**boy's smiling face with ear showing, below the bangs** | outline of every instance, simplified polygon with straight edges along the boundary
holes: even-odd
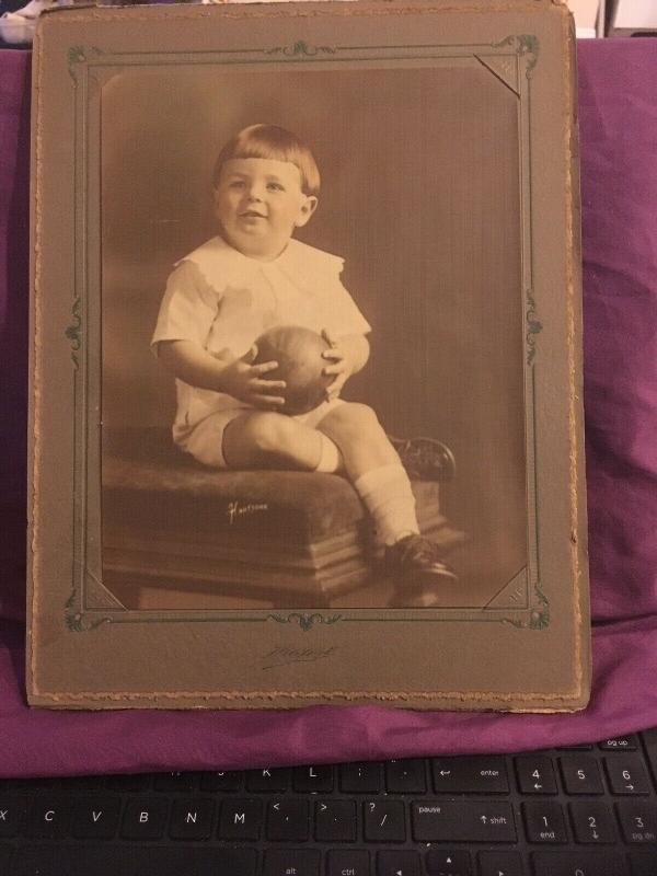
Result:
[[[304,226],[318,199],[301,191],[301,173],[289,161],[234,158],[215,188],[215,215],[228,242],[244,255],[268,261]]]

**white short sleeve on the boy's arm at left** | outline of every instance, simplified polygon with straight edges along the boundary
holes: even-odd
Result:
[[[160,341],[193,341],[204,347],[220,298],[198,265],[186,260],[180,262],[166,281],[151,349],[157,354]]]

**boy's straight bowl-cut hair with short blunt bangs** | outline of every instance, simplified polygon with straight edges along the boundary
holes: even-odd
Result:
[[[212,185],[217,186],[221,168],[232,158],[265,158],[289,161],[299,168],[301,189],[306,195],[320,194],[320,171],[312,152],[297,136],[277,125],[250,125],[229,140],[215,163]]]

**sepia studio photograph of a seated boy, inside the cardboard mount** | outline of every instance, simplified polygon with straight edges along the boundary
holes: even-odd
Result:
[[[106,78],[101,553],[118,604],[522,603],[519,115],[466,56]]]

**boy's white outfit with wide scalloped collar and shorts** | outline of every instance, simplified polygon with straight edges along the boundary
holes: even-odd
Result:
[[[157,354],[161,341],[192,341],[208,353],[241,357],[276,325],[365,335],[371,328],[341,283],[343,265],[343,258],[293,239],[277,258],[260,262],[211,238],[170,274],[151,347]],[[223,429],[252,406],[177,379],[176,395],[174,441],[200,462],[226,468]],[[323,402],[295,418],[316,426],[339,403]]]

